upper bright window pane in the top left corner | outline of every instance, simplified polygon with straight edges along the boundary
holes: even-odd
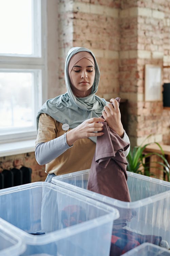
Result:
[[[1,54],[39,55],[38,3],[37,0],[0,0]]]

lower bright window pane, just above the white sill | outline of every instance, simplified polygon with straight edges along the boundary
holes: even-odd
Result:
[[[0,72],[0,130],[34,125],[34,73]]]

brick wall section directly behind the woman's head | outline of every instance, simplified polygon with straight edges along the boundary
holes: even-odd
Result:
[[[70,8],[66,7],[67,4]],[[109,98],[114,97],[119,93],[120,1],[60,1],[59,6],[63,11],[59,15],[59,27],[62,31],[60,88],[65,87],[64,62],[68,49],[83,46],[94,52],[99,64],[101,79],[98,95],[105,97],[109,94]],[[69,31],[69,35],[63,36],[65,30]]]

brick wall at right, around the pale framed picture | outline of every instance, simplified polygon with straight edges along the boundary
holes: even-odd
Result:
[[[128,132],[131,144],[139,145],[149,134],[153,134],[150,141],[168,143],[164,136],[166,132],[168,137],[169,128],[168,122],[165,122],[166,114],[163,114],[163,102],[145,102],[144,94],[145,64],[163,66],[165,31],[168,30],[165,27],[165,1],[121,3],[120,32],[123,39],[120,41],[120,91],[122,96],[129,99]],[[166,25],[169,25],[168,18]],[[169,56],[167,48],[168,45],[166,53]],[[163,81],[164,77],[163,73]]]

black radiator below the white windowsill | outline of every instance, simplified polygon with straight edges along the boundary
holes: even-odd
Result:
[[[31,183],[31,173],[32,169],[25,166],[20,169],[4,169],[0,172],[0,189]]]

